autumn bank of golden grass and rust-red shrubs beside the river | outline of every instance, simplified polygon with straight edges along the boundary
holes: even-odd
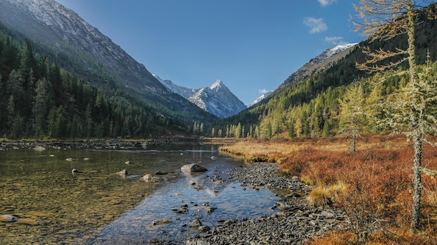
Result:
[[[437,180],[422,174],[422,231],[410,234],[413,150],[402,136],[372,135],[349,151],[343,138],[245,141],[221,147],[247,161],[280,164],[283,175],[313,186],[311,205],[345,210],[352,228],[313,244],[437,244]],[[424,145],[423,167],[437,170],[436,148]],[[433,172],[431,172],[432,175]]]

